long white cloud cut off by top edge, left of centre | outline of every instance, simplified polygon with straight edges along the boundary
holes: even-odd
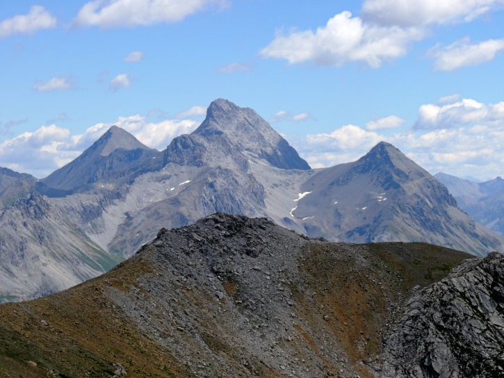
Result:
[[[172,23],[209,6],[226,4],[227,0],[94,0],[79,10],[74,24],[113,28]]]

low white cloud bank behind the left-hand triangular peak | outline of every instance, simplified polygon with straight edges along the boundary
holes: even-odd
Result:
[[[147,117],[131,115],[119,117],[115,122],[95,124],[84,133],[73,135],[70,129],[51,124],[1,143],[1,165],[38,178],[45,177],[74,160],[112,125],[129,131],[145,145],[161,150],[173,138],[196,129],[198,123],[193,120],[148,122]]]

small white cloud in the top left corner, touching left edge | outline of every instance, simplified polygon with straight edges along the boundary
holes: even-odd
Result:
[[[43,6],[32,6],[27,15],[17,15],[0,21],[0,38],[15,34],[33,34],[35,31],[55,28],[56,17]]]

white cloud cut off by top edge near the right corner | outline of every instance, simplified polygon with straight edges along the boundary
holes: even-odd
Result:
[[[503,0],[366,0],[362,17],[366,21],[398,26],[469,22],[503,3]]]

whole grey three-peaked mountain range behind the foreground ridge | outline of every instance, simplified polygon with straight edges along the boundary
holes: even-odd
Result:
[[[45,179],[10,170],[0,179],[0,300],[95,277],[161,227],[218,212],[268,217],[334,241],[422,241],[480,256],[504,250],[501,236],[392,145],[312,170],[254,110],[225,99],[164,151],[113,126]]]

